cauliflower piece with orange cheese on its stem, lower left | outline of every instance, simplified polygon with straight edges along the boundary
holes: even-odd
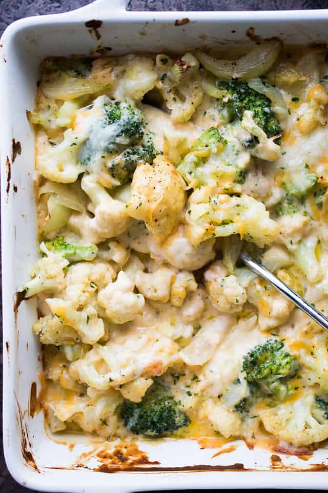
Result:
[[[59,317],[63,324],[73,327],[83,343],[95,344],[104,336],[104,321],[98,318],[97,311],[93,307],[76,311],[69,301],[59,298],[48,298],[46,301],[51,312]]]

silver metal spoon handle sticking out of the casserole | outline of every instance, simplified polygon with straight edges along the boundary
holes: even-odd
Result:
[[[252,258],[247,253],[241,252],[239,257],[244,262],[247,267],[249,267],[253,272],[258,274],[259,276],[266,279],[272,286],[274,286],[280,293],[282,293],[286,298],[290,299],[294,305],[296,305],[300,310],[302,310],[306,315],[313,318],[317,322],[317,324],[321,325],[325,330],[328,330],[328,319],[322,315],[321,312],[316,310],[308,301],[305,301],[302,296],[295,293],[295,291],[287,286],[284,282],[278,279],[277,276],[272,274],[272,272],[265,269],[265,267],[261,266],[254,258]]]

